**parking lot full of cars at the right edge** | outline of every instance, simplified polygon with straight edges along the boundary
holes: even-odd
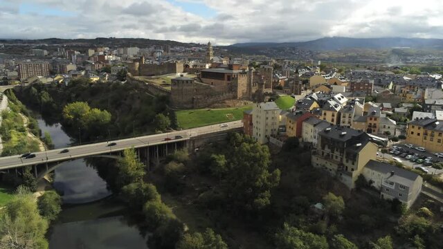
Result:
[[[388,149],[389,152],[387,154],[379,153],[379,157],[388,160],[397,160],[405,166],[413,167],[414,169],[421,169],[422,171],[427,171],[427,174],[443,174],[443,169],[435,169],[432,167],[433,163],[443,163],[443,158],[439,158],[433,153],[430,153],[428,151],[418,151],[415,148],[409,148],[403,144],[397,144]],[[415,157],[416,159],[414,161],[408,159],[411,156]],[[424,160],[425,158],[431,158],[431,160]],[[419,162],[421,163],[417,163],[418,159],[422,159],[419,160]]]

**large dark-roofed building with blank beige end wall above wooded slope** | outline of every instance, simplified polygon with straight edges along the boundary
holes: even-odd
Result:
[[[370,160],[377,156],[377,145],[363,131],[346,127],[327,127],[318,133],[312,151],[313,167],[327,170],[350,189]]]

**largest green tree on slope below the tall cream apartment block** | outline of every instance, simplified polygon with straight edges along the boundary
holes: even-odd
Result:
[[[268,147],[238,134],[230,140],[226,195],[240,209],[260,210],[269,205],[271,189],[280,182],[280,170],[269,171]]]

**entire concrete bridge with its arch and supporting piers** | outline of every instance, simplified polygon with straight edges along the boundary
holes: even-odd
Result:
[[[140,136],[121,140],[109,140],[108,142],[97,142],[89,145],[79,145],[60,149],[35,152],[35,158],[21,158],[21,155],[5,156],[0,158],[0,172],[10,171],[25,166],[33,166],[36,177],[42,177],[52,172],[61,163],[68,160],[80,158],[105,157],[119,158],[125,149],[135,148],[139,158],[145,165],[158,164],[159,158],[181,148],[193,151],[208,140],[220,140],[226,137],[229,131],[240,131],[243,127],[242,121],[226,122],[227,127],[221,124],[213,124],[205,127],[161,133],[150,136]],[[113,146],[111,143],[115,143]],[[62,153],[64,149],[68,152]],[[38,167],[38,169],[37,169]]]

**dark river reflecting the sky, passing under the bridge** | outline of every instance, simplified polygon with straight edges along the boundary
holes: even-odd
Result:
[[[62,125],[37,118],[42,133],[51,134],[55,148],[69,146]],[[54,187],[64,205],[49,232],[50,249],[147,248],[146,239],[130,221],[125,205],[107,190],[107,183],[84,160],[72,160],[55,169]]]

